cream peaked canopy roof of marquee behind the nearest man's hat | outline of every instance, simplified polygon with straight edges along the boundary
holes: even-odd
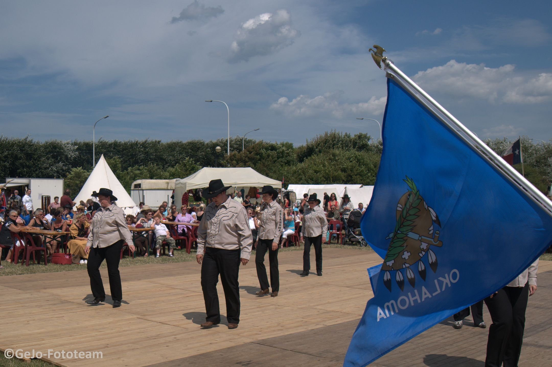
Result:
[[[281,188],[282,182],[270,179],[259,174],[251,167],[237,168],[214,168],[204,167],[185,179],[177,179],[174,182],[174,201],[179,202],[179,198],[188,190],[195,188],[205,188],[209,186],[209,181],[221,179],[225,186],[241,187],[263,187],[270,185],[274,188]]]

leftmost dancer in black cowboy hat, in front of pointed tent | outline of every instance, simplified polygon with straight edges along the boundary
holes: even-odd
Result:
[[[117,201],[113,191],[109,188],[100,188],[99,192],[94,192],[92,196],[98,197],[100,207],[94,218],[92,218],[88,242],[86,248],[84,248],[84,251],[88,254],[87,269],[92,295],[94,296],[94,300],[87,303],[97,305],[105,301],[105,290],[99,271],[100,265],[105,259],[113,308],[120,307],[123,299],[123,289],[121,276],[119,275],[119,260],[125,242],[129,245],[130,251],[134,252],[132,236],[129,227],[126,226],[123,209],[113,203]]]

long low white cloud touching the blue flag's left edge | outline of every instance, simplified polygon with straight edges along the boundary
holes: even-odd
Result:
[[[363,113],[379,114],[383,112],[387,100],[386,97],[373,96],[367,102],[341,103],[339,99],[342,95],[342,91],[325,93],[323,96],[314,98],[301,95],[292,101],[282,97],[274,102],[270,109],[293,117],[312,117],[330,113],[333,117],[343,118],[353,114],[355,116]]]

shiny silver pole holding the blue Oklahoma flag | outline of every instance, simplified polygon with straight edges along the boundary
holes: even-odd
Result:
[[[474,149],[474,151],[479,154],[483,159],[489,161],[491,164],[495,164],[500,167],[503,171],[506,171],[508,175],[504,175],[508,180],[513,182],[515,185],[519,186],[522,189],[522,192],[527,192],[530,195],[528,197],[533,200],[535,203],[543,207],[550,216],[552,216],[552,201],[550,201],[540,190],[530,183],[525,177],[519,174],[518,171],[509,165],[505,160],[503,160],[498,154],[496,154],[487,144],[483,143],[479,138],[476,137],[468,128],[460,123],[450,112],[444,109],[435,99],[429,96],[422,88],[420,88],[415,82],[413,82],[408,76],[406,76],[398,67],[396,67],[391,60],[387,58],[381,59],[385,61],[385,71],[391,75],[392,79],[398,82],[401,86],[411,93],[418,102],[422,103],[429,111],[432,111],[433,114],[445,125],[447,125],[452,133],[457,134],[462,140],[468,143],[471,146],[476,146],[481,149],[486,155],[491,157],[492,161],[481,154],[481,151]],[[389,72],[391,71],[391,72]],[[463,135],[459,134],[456,130],[463,132],[466,139]]]

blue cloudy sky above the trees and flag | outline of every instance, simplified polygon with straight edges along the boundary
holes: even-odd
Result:
[[[0,133],[305,142],[378,137],[395,65],[480,138],[549,140],[552,3],[0,2]]]

